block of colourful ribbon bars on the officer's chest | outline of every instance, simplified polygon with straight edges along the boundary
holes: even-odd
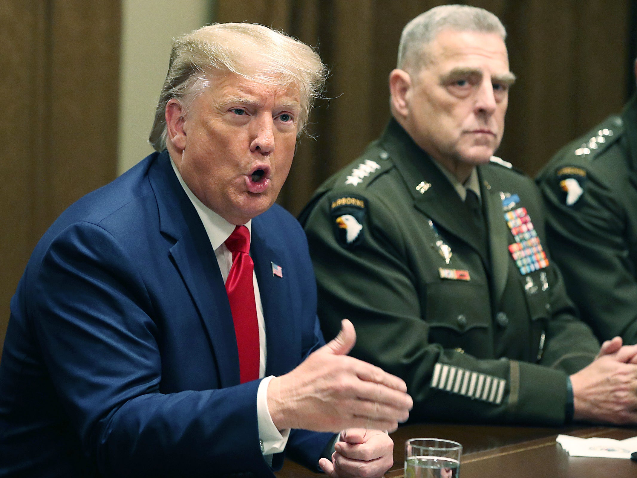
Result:
[[[515,243],[509,245],[509,252],[520,274],[526,275],[548,267],[547,254],[526,208],[505,212],[505,221],[515,239]]]

